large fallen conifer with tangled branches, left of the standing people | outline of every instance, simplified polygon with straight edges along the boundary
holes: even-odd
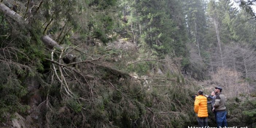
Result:
[[[43,10],[43,8],[41,9]],[[8,18],[5,19],[13,19],[13,21],[10,20],[11,22],[8,23],[12,30],[21,30],[20,28],[16,28],[16,26],[23,26],[23,24],[25,24],[25,26],[34,25],[33,18],[27,21],[23,18],[22,14],[19,15],[18,13],[12,12],[11,9],[6,8],[3,4],[1,4],[0,10],[5,16],[8,16]],[[58,22],[59,21],[60,20],[58,20]],[[12,22],[16,23],[15,27],[12,26]],[[48,55],[51,51],[51,57],[47,59],[46,56],[43,56],[45,58],[44,60],[51,63],[44,63],[43,73],[39,73],[38,75],[42,78],[40,87],[34,88],[31,90],[30,94],[27,94],[29,101],[42,98],[41,101],[37,101],[39,105],[35,104],[35,102],[31,105],[28,104],[32,110],[36,110],[32,112],[35,113],[35,116],[31,113],[25,113],[28,117],[39,117],[38,119],[34,118],[35,121],[32,122],[33,124],[38,124],[38,127],[113,128],[146,126],[165,128],[181,127],[184,121],[191,119],[190,115],[192,114],[190,113],[193,110],[190,109],[190,106],[193,99],[190,96],[193,94],[193,91],[190,89],[191,86],[189,87],[185,83],[179,83],[181,76],[172,74],[175,73],[173,69],[178,68],[172,68],[173,63],[172,61],[167,61],[169,59],[157,60],[140,58],[139,61],[135,61],[138,58],[132,58],[133,60],[130,60],[120,57],[119,61],[111,61],[113,58],[117,58],[117,56],[120,55],[119,51],[121,50],[102,51],[101,48],[97,49],[97,47],[94,47],[95,49],[86,49],[86,52],[89,54],[81,54],[81,58],[77,59],[80,59],[79,62],[65,64],[61,59],[71,53],[72,50],[62,47],[53,40],[53,38],[47,35],[39,36],[36,40],[33,38],[34,33],[30,31],[30,28],[26,29],[28,31],[20,34],[21,36],[27,36],[27,34],[32,35],[29,35],[26,45],[32,45],[33,42],[41,39],[47,49],[51,49],[47,50]],[[15,31],[12,30],[8,31],[9,33],[13,32],[10,36],[11,39],[16,36]],[[38,35],[42,34],[41,31],[39,32]],[[6,35],[6,33],[1,35]],[[20,39],[20,42],[22,43],[23,40],[23,38]],[[7,40],[6,42],[6,44],[9,44],[11,41]],[[17,43],[13,41],[13,44]],[[78,46],[82,49],[80,49],[81,51],[84,50],[83,48],[89,47],[86,46],[85,43],[81,43]],[[31,49],[38,50],[41,47],[40,43],[40,47],[32,47],[28,49],[28,51]],[[17,46],[17,48],[20,48],[20,45]],[[72,49],[75,50],[75,48]],[[112,47],[110,47],[110,49],[112,49]],[[56,50],[61,52],[57,52]],[[79,51],[79,53],[82,53],[81,51]],[[77,54],[76,52],[72,53]],[[130,51],[122,51],[122,53],[124,54],[123,57],[129,58],[137,54]],[[26,52],[26,54],[29,56],[27,57],[28,59],[40,58],[32,56],[31,52]],[[43,51],[40,54],[44,54]],[[15,57],[15,55],[13,56]],[[135,56],[137,57],[139,55]],[[39,62],[40,61],[42,61],[41,58],[39,59]],[[146,61],[150,62],[151,66],[147,67],[143,65],[143,62]],[[28,65],[31,62],[34,61],[27,61],[26,64]],[[126,68],[127,66],[125,66],[125,64],[129,62],[132,62],[131,67],[143,65],[142,67],[146,69],[145,74],[144,76],[138,75],[138,77],[143,77],[142,79],[136,77],[136,74],[141,72],[140,69],[134,70],[135,76],[133,76],[133,71]],[[162,62],[164,62],[164,65]],[[122,65],[122,63],[124,65]],[[71,67],[71,65],[75,66]],[[152,67],[155,66],[157,66],[156,69],[163,67],[163,69],[168,70],[163,71],[162,75],[150,73]],[[8,66],[6,67],[5,70],[8,71]],[[38,71],[36,70],[35,72],[37,73]],[[28,80],[28,83],[29,82],[31,83],[31,80]],[[38,82],[35,82],[35,85],[39,85],[37,83]],[[15,83],[15,86],[16,85]],[[40,93],[32,95],[35,90],[39,90],[38,92]],[[29,111],[31,112],[31,110]],[[30,118],[26,119],[27,122],[24,124],[31,124],[31,122],[29,122]]]

